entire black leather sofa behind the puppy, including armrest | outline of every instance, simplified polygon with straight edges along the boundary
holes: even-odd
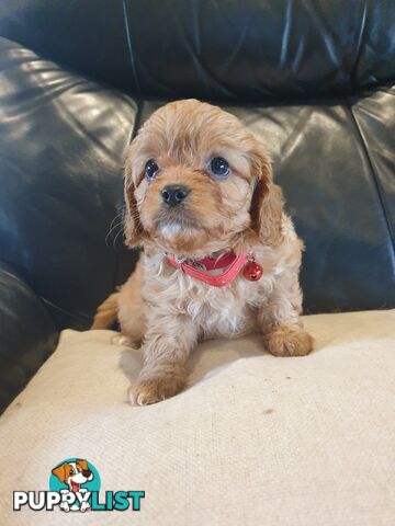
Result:
[[[2,0],[0,404],[132,271],[122,165],[178,98],[267,145],[305,312],[395,306],[395,2]]]

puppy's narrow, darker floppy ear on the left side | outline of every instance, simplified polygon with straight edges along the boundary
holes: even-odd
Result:
[[[125,163],[125,171],[124,171],[124,179],[125,179],[125,187],[124,187],[124,195],[126,202],[126,215],[124,220],[124,232],[125,232],[125,240],[126,244],[129,247],[138,247],[143,240],[143,226],[139,219],[136,197],[135,193],[135,185],[132,178],[132,168],[133,168],[133,153],[134,149],[133,146],[129,149],[129,152],[126,158]]]

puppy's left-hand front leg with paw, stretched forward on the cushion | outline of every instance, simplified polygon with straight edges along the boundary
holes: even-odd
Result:
[[[198,334],[184,316],[162,317],[155,322],[143,344],[144,366],[128,391],[131,403],[147,405],[180,392],[187,381],[187,359]]]

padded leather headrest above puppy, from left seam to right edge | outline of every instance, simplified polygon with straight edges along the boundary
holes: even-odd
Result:
[[[392,0],[125,5],[134,84],[146,94],[305,99],[350,93],[395,76]]]

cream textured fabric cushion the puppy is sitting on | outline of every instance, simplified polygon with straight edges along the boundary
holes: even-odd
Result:
[[[65,331],[0,420],[1,524],[76,524],[12,512],[13,490],[87,458],[102,490],[145,490],[140,512],[88,512],[89,525],[390,525],[395,516],[395,311],[305,318],[316,351],[275,358],[259,341],[211,341],[188,390],[132,408],[139,351],[111,331]]]

